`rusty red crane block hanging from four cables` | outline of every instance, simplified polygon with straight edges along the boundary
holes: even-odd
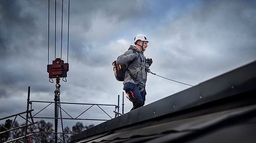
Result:
[[[68,63],[64,63],[60,58],[56,58],[53,60],[53,65],[47,65],[49,78],[67,77],[68,68]]]

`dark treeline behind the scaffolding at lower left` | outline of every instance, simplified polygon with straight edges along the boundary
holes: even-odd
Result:
[[[45,122],[45,120],[40,120],[37,121],[38,123],[35,125],[31,125],[28,126],[28,132],[54,132],[54,125],[50,122]],[[13,125],[12,125],[13,124]],[[13,128],[19,127],[25,125],[24,124],[19,124],[17,121],[14,121],[14,123],[12,122],[12,120],[7,119],[5,120],[4,124],[1,124],[0,126],[0,132],[6,131],[7,129],[10,129],[10,127],[12,126]],[[83,123],[81,122],[77,122],[75,123],[75,125],[70,129],[68,126],[63,127],[63,131],[64,132],[73,132],[73,133],[78,133],[81,132],[85,129],[91,128],[94,125],[91,124],[89,126],[84,126]],[[58,132],[62,132],[62,131],[58,131]],[[24,128],[20,128],[17,130],[13,130],[10,132],[6,132],[6,133],[2,133],[0,134],[0,143],[2,142],[6,142],[6,141],[10,141],[12,139],[16,139],[19,137],[22,137],[25,135],[25,127]],[[70,142],[70,137],[72,134],[64,134],[65,136],[65,142],[68,143]],[[60,139],[63,139],[62,134],[58,134]],[[27,138],[28,139],[28,138]],[[55,141],[55,135],[54,133],[33,133],[33,135],[31,136],[32,142],[33,143],[54,143]],[[20,139],[21,142],[25,142],[25,138]],[[16,141],[16,142],[20,142],[20,141]],[[59,143],[63,143],[61,140],[58,139]]]

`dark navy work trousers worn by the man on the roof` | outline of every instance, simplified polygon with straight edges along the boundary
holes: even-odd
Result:
[[[139,88],[136,84],[125,83],[124,90],[128,94],[130,94],[130,91],[132,91],[133,95],[135,95],[135,97],[136,97],[136,100],[132,102],[133,107],[132,107],[131,111],[134,109],[137,109],[145,104],[146,94],[147,94],[145,89],[140,92]]]

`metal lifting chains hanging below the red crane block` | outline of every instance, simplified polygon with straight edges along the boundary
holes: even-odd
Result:
[[[55,117],[55,132],[58,132],[58,117],[59,117],[59,110],[60,110],[60,120],[61,120],[61,129],[62,132],[64,132],[63,130],[63,121],[62,121],[62,113],[61,113],[61,106],[60,106],[60,84],[57,83],[56,85],[56,90],[54,91],[54,117]],[[57,143],[58,137],[57,137],[57,133],[55,133],[55,143]],[[62,134],[63,137],[63,142],[65,143],[65,138],[64,138],[64,134]]]

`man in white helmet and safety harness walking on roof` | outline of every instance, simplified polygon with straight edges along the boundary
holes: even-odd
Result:
[[[134,38],[135,46],[130,45],[128,51],[120,55],[116,60],[116,64],[126,64],[128,66],[123,84],[124,90],[133,104],[131,111],[145,104],[147,70],[153,62],[152,59],[146,59],[144,56],[148,43],[146,35],[136,35]]]

